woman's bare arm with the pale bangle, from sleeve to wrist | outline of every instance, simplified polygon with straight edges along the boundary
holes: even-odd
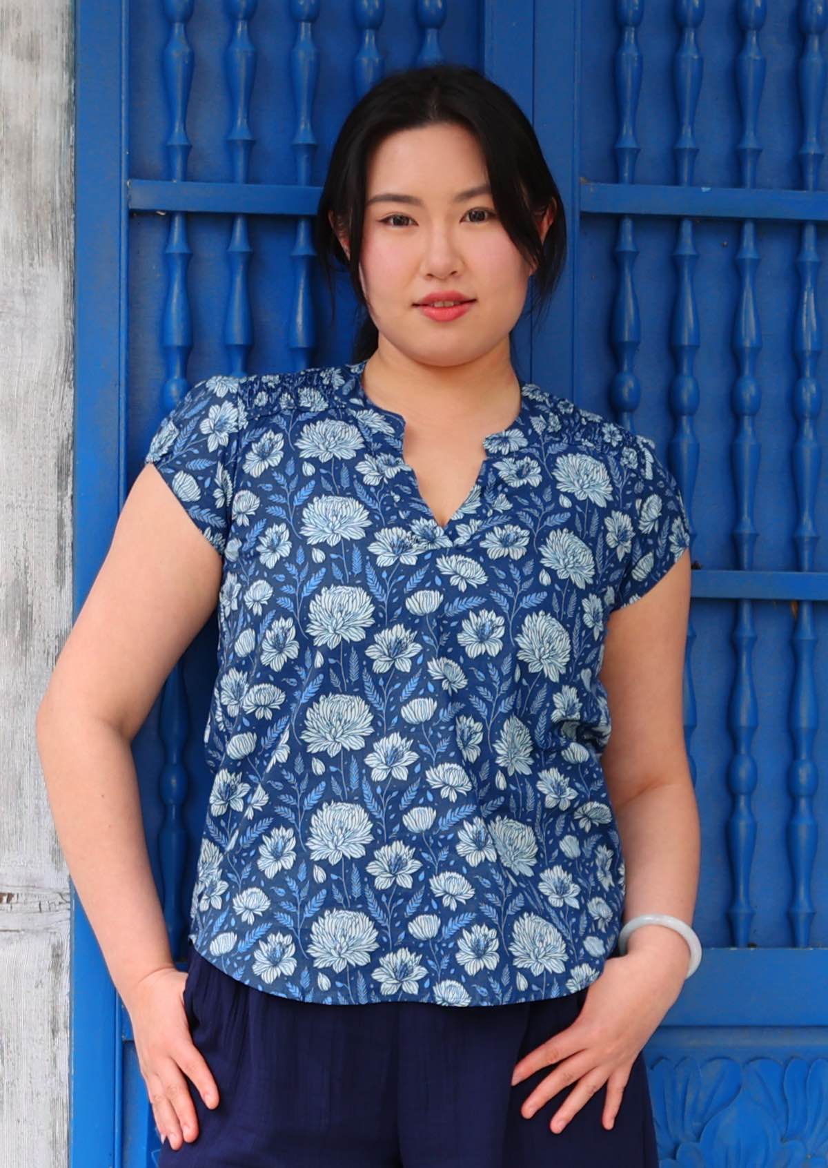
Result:
[[[612,734],[603,755],[626,867],[625,920],[667,912],[693,923],[698,889],[700,823],[684,748],[682,675],[690,606],[686,551],[649,592],[610,618],[601,682]],[[681,988],[684,939],[661,925],[629,937],[649,948]]]

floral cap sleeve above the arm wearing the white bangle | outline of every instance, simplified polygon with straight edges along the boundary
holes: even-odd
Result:
[[[618,583],[614,609],[640,599],[690,545],[690,524],[679,484],[654,451],[655,443],[632,434],[638,471],[626,479],[624,512],[629,521],[629,555]]]

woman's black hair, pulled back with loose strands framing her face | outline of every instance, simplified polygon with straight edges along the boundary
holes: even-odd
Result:
[[[325,186],[314,220],[314,246],[334,304],[332,260],[350,273],[361,306],[361,321],[350,360],[362,361],[377,348],[378,332],[371,320],[360,281],[360,252],[371,152],[389,134],[419,126],[454,124],[469,130],[480,144],[492,200],[503,229],[515,246],[537,269],[529,311],[548,306],[566,258],[566,221],[563,202],[531,123],[500,85],[471,65],[438,62],[402,69],[378,81],[354,105],[336,137]],[[543,241],[537,216],[555,207],[555,218]],[[348,237],[342,250],[329,221]],[[509,336],[512,343],[512,335]]]

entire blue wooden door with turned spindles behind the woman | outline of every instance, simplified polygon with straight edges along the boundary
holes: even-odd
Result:
[[[705,946],[647,1047],[662,1163],[824,1163],[824,2],[77,5],[75,609],[196,380],[349,359],[311,216],[349,106],[451,60],[508,89],[570,256],[527,375],[655,438],[694,533],[687,744]],[[820,489],[821,488],[821,489]],[[182,957],[215,618],[133,743]],[[821,818],[822,816],[822,818]],[[125,905],[128,911],[128,905]],[[72,896],[72,1163],[152,1163],[130,1020]]]

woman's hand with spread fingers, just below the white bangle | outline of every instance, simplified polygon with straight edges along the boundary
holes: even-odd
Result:
[[[603,1124],[612,1127],[632,1065],[681,993],[687,957],[661,961],[649,950],[607,959],[587,987],[578,1017],[530,1050],[515,1064],[513,1086],[542,1066],[557,1066],[527,1096],[527,1119],[570,1083],[576,1085],[550,1121],[561,1132],[587,1099],[606,1083]],[[578,1082],[576,1082],[578,1080]]]

